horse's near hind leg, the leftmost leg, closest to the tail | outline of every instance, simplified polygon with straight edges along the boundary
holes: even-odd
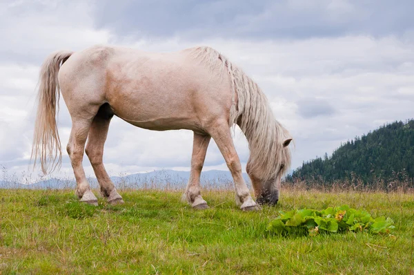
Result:
[[[90,205],[98,205],[97,197],[90,190],[88,180],[86,180],[85,171],[82,167],[83,151],[85,151],[85,142],[88,137],[92,117],[86,118],[76,115],[72,116],[72,130],[70,131],[70,138],[68,146],[66,147],[70,163],[72,164],[73,172],[77,182],[76,194],[81,199],[81,202],[86,202]]]

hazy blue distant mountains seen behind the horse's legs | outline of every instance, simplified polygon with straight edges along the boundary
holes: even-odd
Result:
[[[246,184],[250,187],[250,178],[246,173],[243,174]],[[159,188],[159,189],[184,189],[190,178],[188,171],[174,170],[157,170],[148,173],[135,173],[128,176],[112,176],[110,177],[117,187],[126,187],[132,189],[141,188]],[[97,188],[96,178],[88,178],[92,188]],[[210,170],[202,171],[200,178],[201,185],[204,187],[228,187],[233,186],[233,178],[230,171]],[[76,188],[75,180],[61,180],[58,178],[50,178],[33,184],[21,184],[15,182],[1,182],[0,188],[23,188],[23,189],[63,189]]]

